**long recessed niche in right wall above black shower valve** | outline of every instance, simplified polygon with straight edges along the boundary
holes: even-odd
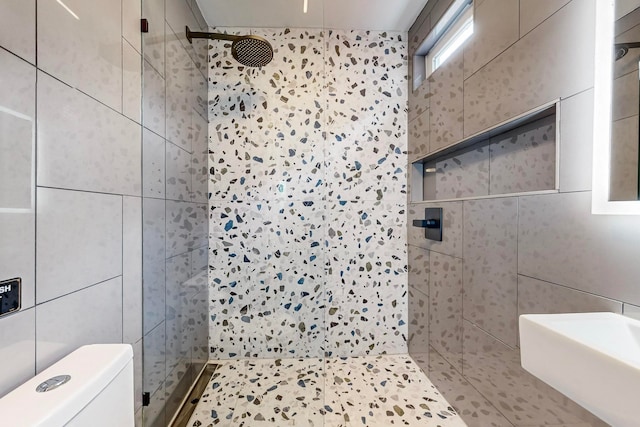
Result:
[[[558,191],[557,102],[413,162],[411,200],[460,200]]]

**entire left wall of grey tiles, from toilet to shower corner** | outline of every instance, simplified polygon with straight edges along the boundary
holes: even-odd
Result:
[[[21,310],[0,319],[0,395],[83,344],[129,343],[142,425],[143,391],[161,389],[151,402],[162,407],[177,366],[208,357],[206,315],[185,318],[207,304],[206,43],[198,56],[172,31],[204,21],[193,1],[67,5],[0,1],[0,280],[23,279]],[[203,237],[183,243],[187,226]],[[143,290],[143,249],[157,298]],[[163,357],[144,380],[143,347],[146,372]]]

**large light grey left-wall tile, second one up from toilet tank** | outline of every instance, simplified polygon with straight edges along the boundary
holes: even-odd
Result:
[[[38,304],[122,275],[122,196],[39,188],[37,227]]]

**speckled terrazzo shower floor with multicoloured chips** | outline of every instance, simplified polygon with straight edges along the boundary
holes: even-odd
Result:
[[[407,355],[216,363],[190,427],[466,426]]]

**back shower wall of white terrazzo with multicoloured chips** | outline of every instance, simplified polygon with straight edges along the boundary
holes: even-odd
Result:
[[[406,33],[218,28],[209,45],[211,358],[406,352]]]

